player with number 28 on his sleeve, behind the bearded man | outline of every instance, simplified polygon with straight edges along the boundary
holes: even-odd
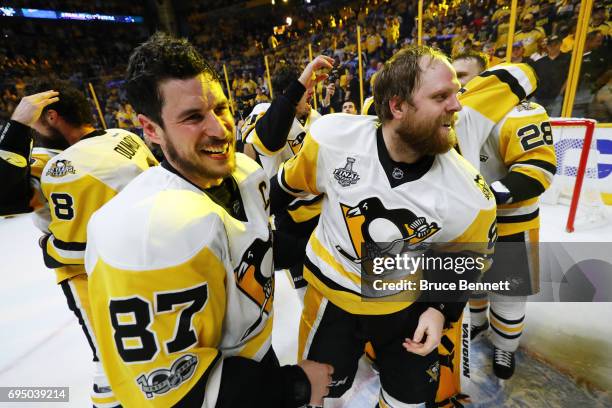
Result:
[[[468,91],[480,80],[477,77],[470,82],[485,68],[483,64],[486,62],[470,54],[458,56],[453,62],[465,74],[462,86]],[[457,137],[461,144],[471,135],[460,129]],[[479,292],[470,299],[472,339],[489,328],[490,301],[493,372],[501,379],[514,373],[514,353],[523,331],[526,297],[539,291],[538,198],[550,186],[556,172],[552,143],[552,128],[544,108],[523,101],[497,121],[479,152],[480,163],[474,163],[480,165],[498,205],[498,242],[502,244],[497,247],[488,278],[515,283],[511,291],[514,296]]]

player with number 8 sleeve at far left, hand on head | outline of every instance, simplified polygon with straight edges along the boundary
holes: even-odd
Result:
[[[9,143],[21,143],[24,148],[13,151],[25,153],[25,147],[29,148],[28,127],[32,127],[41,135],[41,144],[56,149],[35,147],[29,169],[31,190],[27,189],[28,169],[24,167],[24,178],[18,179],[18,185],[24,188],[15,188],[8,197],[21,203],[14,205],[13,211],[35,211],[35,224],[45,234],[40,241],[45,264],[55,270],[68,307],[92,349],[93,405],[117,407],[119,402],[99,362],[91,327],[83,266],[86,228],[94,211],[157,161],[138,136],[119,129],[96,130],[91,125],[89,102],[69,84],[55,81],[39,87],[54,91],[24,98],[8,125],[7,138]]]

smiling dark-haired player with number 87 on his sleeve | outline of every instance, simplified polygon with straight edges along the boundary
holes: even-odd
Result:
[[[279,367],[271,348],[269,182],[234,153],[216,74],[156,34],[128,64],[128,98],[166,160],[88,227],[93,324],[124,406],[320,404],[333,369]]]

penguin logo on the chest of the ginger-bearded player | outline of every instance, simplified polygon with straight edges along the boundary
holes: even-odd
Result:
[[[370,197],[354,207],[340,203],[344,222],[357,256],[352,256],[340,245],[336,249],[355,263],[362,263],[386,254],[394,255],[404,249],[417,250],[423,241],[438,231],[435,222],[427,222],[406,208],[387,209],[378,197]],[[380,246],[383,243],[383,247]],[[362,246],[366,254],[362,254]]]

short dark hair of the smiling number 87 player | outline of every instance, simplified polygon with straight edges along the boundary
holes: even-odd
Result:
[[[160,83],[166,79],[189,79],[202,73],[221,82],[214,69],[186,39],[157,32],[132,52],[124,87],[136,112],[163,127],[164,101]]]

